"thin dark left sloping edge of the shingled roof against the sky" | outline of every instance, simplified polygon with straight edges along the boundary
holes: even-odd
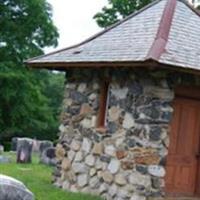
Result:
[[[106,28],[106,29],[104,29],[104,30],[102,30],[102,31],[100,31],[100,32],[98,32],[98,33],[96,33],[96,34],[94,34],[93,36],[87,38],[86,40],[84,40],[84,41],[82,41],[82,42],[80,42],[80,43],[78,43],[78,44],[75,44],[75,45],[72,45],[72,46],[69,46],[69,47],[66,47],[66,48],[62,48],[62,49],[60,49],[60,50],[56,50],[56,51],[53,51],[53,52],[48,53],[48,54],[44,54],[44,55],[40,55],[40,56],[33,57],[33,58],[31,58],[31,59],[26,60],[25,63],[29,63],[29,62],[31,62],[31,61],[33,61],[33,60],[35,60],[35,59],[44,58],[44,57],[46,57],[46,56],[50,56],[50,55],[53,55],[53,54],[56,54],[56,53],[60,53],[60,52],[62,52],[62,51],[66,51],[66,50],[69,50],[69,49],[73,49],[73,48],[79,47],[79,46],[81,46],[81,45],[83,45],[83,44],[85,44],[85,43],[88,43],[88,42],[90,42],[90,41],[96,39],[97,37],[103,35],[104,33],[106,33],[106,32],[108,32],[108,31],[112,30],[113,28],[119,26],[120,24],[126,22],[127,20],[131,19],[132,17],[134,17],[134,16],[136,16],[136,15],[142,13],[144,10],[147,10],[148,8],[150,8],[150,7],[154,6],[154,5],[156,5],[156,4],[159,3],[160,1],[162,1],[162,0],[155,0],[155,1],[153,1],[152,3],[150,3],[150,4],[146,5],[145,7],[141,8],[140,10],[138,10],[138,11],[136,11],[136,12],[134,12],[134,13],[128,15],[128,16],[125,17],[124,19],[122,19],[122,20],[116,22],[115,24],[113,24],[113,25],[109,26],[108,28]]]

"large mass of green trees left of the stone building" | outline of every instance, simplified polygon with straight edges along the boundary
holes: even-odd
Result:
[[[0,142],[12,136],[55,139],[64,75],[23,64],[57,45],[51,6],[46,0],[0,0],[0,27]]]

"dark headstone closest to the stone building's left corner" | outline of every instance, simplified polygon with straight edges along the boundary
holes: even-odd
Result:
[[[43,151],[40,162],[46,165],[56,165],[56,155],[55,155],[55,148],[50,147]]]

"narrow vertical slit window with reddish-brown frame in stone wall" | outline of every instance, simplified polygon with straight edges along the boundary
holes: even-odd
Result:
[[[106,116],[108,110],[108,98],[109,98],[109,83],[104,81],[100,89],[99,99],[99,113],[97,118],[97,130],[100,132],[106,131]]]

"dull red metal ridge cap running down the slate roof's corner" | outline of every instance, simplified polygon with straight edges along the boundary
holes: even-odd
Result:
[[[168,0],[163,15],[160,20],[158,32],[156,38],[147,54],[146,59],[153,59],[159,61],[159,58],[165,51],[166,44],[168,42],[169,33],[171,29],[172,20],[174,17],[177,0]]]

